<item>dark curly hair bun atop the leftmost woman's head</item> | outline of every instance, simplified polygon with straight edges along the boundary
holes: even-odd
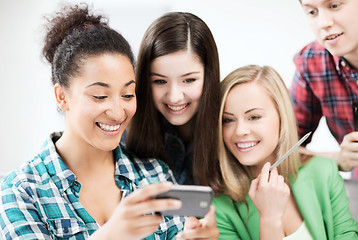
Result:
[[[88,5],[65,6],[56,12],[53,18],[47,18],[47,34],[42,54],[52,64],[57,47],[63,39],[75,29],[85,29],[90,26],[107,26],[107,19],[101,15],[89,12]]]

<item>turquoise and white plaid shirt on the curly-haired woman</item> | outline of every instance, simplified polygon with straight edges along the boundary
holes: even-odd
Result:
[[[52,134],[34,159],[3,180],[0,226],[5,239],[86,239],[99,228],[79,201],[80,183],[56,152],[54,142],[60,136]],[[158,160],[129,160],[123,146],[114,153],[115,181],[123,197],[148,184],[174,179]],[[159,229],[145,239],[175,239],[184,220],[164,217]]]

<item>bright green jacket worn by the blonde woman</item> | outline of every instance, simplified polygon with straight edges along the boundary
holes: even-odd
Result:
[[[291,190],[313,239],[358,239],[358,223],[333,160],[312,158],[299,169]],[[225,194],[214,198],[219,239],[259,239],[259,213],[248,195],[246,200],[248,216],[245,203]]]

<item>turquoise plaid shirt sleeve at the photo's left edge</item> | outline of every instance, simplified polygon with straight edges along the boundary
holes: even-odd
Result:
[[[41,221],[31,196],[24,188],[6,182],[0,192],[0,226],[2,237],[10,239],[51,239]]]

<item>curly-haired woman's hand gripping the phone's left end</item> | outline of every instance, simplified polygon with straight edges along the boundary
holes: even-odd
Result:
[[[152,199],[167,192],[172,183],[151,184],[124,198],[115,209],[108,222],[103,225],[106,239],[142,239],[154,233],[163,221],[162,216],[150,214],[181,207],[181,201],[174,199]],[[103,235],[102,235],[103,236]]]

